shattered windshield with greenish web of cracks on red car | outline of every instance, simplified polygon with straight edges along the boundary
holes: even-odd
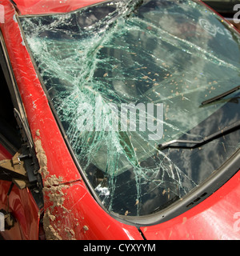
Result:
[[[240,38],[188,0],[111,1],[22,16],[27,46],[82,172],[123,216],[182,200],[239,148],[239,131],[191,150],[240,118]]]

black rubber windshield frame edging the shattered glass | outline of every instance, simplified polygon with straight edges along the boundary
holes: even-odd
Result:
[[[110,1],[104,1],[104,2],[110,2]],[[102,4],[104,2],[99,2],[91,6],[97,6],[99,4]],[[198,1],[195,1],[199,4]],[[203,3],[201,3],[204,5]],[[87,6],[90,7],[90,6]],[[84,9],[86,7],[82,7],[80,9]],[[206,7],[207,8],[207,7]],[[79,9],[78,9],[79,10]],[[70,11],[75,12],[76,10]],[[54,13],[53,15],[55,15]],[[61,15],[62,13],[60,13]],[[66,13],[62,14],[65,15]],[[20,15],[19,17],[36,17],[36,16],[49,16],[51,14],[37,14],[37,15]],[[164,210],[159,210],[157,213],[149,214],[145,216],[124,216],[120,214],[116,214],[112,211],[109,211],[106,209],[106,207],[102,204],[100,198],[98,198],[98,194],[94,190],[93,186],[90,184],[90,181],[88,178],[86,178],[86,174],[82,170],[82,166],[78,162],[78,159],[76,155],[74,154],[74,150],[72,149],[72,146],[70,145],[70,142],[66,136],[66,132],[62,126],[62,122],[60,121],[60,118],[58,117],[57,111],[54,108],[54,104],[50,99],[50,95],[48,91],[46,90],[46,86],[42,80],[42,76],[39,74],[37,64],[31,54],[30,46],[28,46],[28,43],[26,42],[26,38],[24,36],[24,30],[22,29],[21,22],[18,18],[18,15],[16,15],[16,18],[18,20],[18,25],[22,32],[23,40],[25,41],[26,48],[30,54],[30,58],[34,64],[36,74],[38,74],[38,79],[40,80],[42,84],[42,88],[46,93],[46,98],[48,99],[48,102],[50,104],[50,108],[54,114],[54,118],[56,119],[56,122],[58,123],[58,126],[62,132],[62,137],[64,138],[66,145],[68,146],[68,149],[70,150],[70,154],[78,167],[78,170],[80,174],[82,175],[82,178],[84,182],[86,183],[86,186],[90,190],[90,194],[94,197],[94,199],[98,202],[99,206],[102,207],[103,210],[105,210],[110,216],[113,218],[118,219],[120,222],[124,222],[126,224],[134,225],[134,226],[149,226],[158,224],[161,222],[166,222],[167,220],[170,220],[171,218],[174,218],[178,216],[179,214],[184,213],[186,210],[190,210],[194,206],[197,206],[198,203],[205,200],[207,197],[210,196],[210,194],[213,194],[216,190],[218,190],[224,183],[226,183],[234,174],[236,174],[239,170],[239,161],[240,161],[240,149],[238,149],[235,154],[233,154],[229,159],[226,160],[226,162],[218,169],[215,170],[214,174],[211,174],[209,178],[206,179],[205,182],[202,182],[201,185],[197,186],[192,190],[189,194],[186,194],[181,198],[181,200],[178,200],[177,202],[172,203],[170,206],[166,207]]]

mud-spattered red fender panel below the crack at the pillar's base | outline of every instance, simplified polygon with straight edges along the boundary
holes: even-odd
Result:
[[[118,222],[96,206],[83,182],[49,187],[45,194],[48,239],[142,239],[137,228]]]

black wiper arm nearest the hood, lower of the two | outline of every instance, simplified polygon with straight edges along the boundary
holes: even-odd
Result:
[[[194,141],[194,140],[182,140],[182,139],[174,139],[170,142],[165,142],[162,144],[158,145],[158,150],[164,150],[166,148],[186,148],[186,149],[194,149],[198,146],[202,146],[208,142],[213,141],[216,138],[220,138],[225,134],[230,134],[231,132],[233,132],[234,130],[238,130],[240,129],[240,121],[238,122],[234,122],[232,125],[230,126],[226,126],[225,128],[223,128],[222,130],[218,130],[217,132],[215,132],[214,134],[210,134],[209,136],[202,138],[201,140],[198,141]],[[194,144],[193,146],[174,146],[174,144]]]

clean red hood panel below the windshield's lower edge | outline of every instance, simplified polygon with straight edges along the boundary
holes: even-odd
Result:
[[[240,171],[186,213],[156,226],[142,227],[147,239],[240,239]]]

